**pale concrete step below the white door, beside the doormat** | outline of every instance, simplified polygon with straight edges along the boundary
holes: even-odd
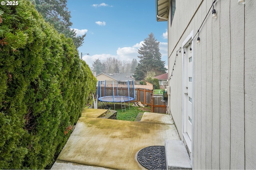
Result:
[[[165,156],[168,170],[192,169],[188,152],[182,141],[165,140]]]

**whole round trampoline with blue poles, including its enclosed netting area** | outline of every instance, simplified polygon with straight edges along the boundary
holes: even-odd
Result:
[[[97,96],[98,101],[107,103],[114,103],[114,109],[116,109],[115,103],[128,102],[130,109],[130,101],[134,101],[135,88],[134,80],[129,81],[98,81],[97,83]],[[132,96],[132,97],[130,97]]]

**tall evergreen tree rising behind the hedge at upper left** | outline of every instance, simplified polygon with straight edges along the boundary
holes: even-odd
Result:
[[[67,0],[30,0],[36,7],[36,10],[42,14],[45,21],[54,25],[58,33],[62,33],[66,38],[72,38],[76,48],[83,44],[84,37],[76,36],[76,32],[70,29],[72,22],[71,15],[68,11]]]

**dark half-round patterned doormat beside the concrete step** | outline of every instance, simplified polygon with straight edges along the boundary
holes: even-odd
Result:
[[[166,170],[164,146],[151,146],[141,149],[137,160],[142,166],[150,170]]]

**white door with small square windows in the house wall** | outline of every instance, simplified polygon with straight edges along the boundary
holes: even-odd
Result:
[[[190,45],[184,47],[184,133],[192,139],[192,101],[193,101],[193,58]]]

